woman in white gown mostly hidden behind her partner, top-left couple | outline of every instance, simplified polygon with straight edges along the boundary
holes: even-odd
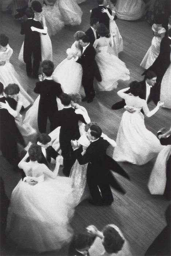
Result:
[[[39,1],[33,1],[32,8],[34,11],[34,18],[41,22],[43,28],[46,27],[45,16],[42,14],[42,5]],[[52,61],[52,42],[48,35],[48,31],[46,34],[43,34],[43,30],[39,30],[34,28],[34,31],[41,31],[40,39],[41,39],[41,57],[43,60],[51,60]],[[45,31],[46,32],[46,31]],[[22,44],[22,48],[20,50],[18,59],[23,62],[23,50],[24,50],[24,42]]]

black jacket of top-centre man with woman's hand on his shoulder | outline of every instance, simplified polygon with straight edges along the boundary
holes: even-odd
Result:
[[[109,13],[112,15],[112,11],[110,10],[110,8],[106,8],[104,7],[104,5],[99,5],[97,8],[92,9],[91,12],[91,18],[98,18],[99,19],[99,23],[103,23],[107,29],[109,29],[109,16],[107,15],[106,12],[102,12],[102,9],[107,9],[109,11]]]

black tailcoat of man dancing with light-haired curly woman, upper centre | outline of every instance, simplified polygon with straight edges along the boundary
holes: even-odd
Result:
[[[87,76],[90,76],[90,74],[92,74],[99,82],[101,82],[102,77],[100,75],[98,65],[95,61],[95,56],[96,50],[91,44],[89,44],[87,48],[84,50],[81,57],[79,57],[79,59],[77,60],[77,63],[80,63],[83,67],[82,79],[86,79]]]

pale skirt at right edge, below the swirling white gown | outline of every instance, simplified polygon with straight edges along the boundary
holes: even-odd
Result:
[[[148,189],[152,195],[163,195],[166,187],[166,165],[171,154],[171,145],[160,151],[148,181]]]

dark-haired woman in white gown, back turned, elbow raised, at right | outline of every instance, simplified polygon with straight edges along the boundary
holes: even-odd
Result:
[[[150,132],[144,124],[144,115],[151,117],[159,110],[163,103],[158,102],[155,109],[149,111],[145,99],[139,98],[142,93],[141,84],[137,81],[130,83],[130,94],[125,91],[129,88],[118,91],[118,95],[125,99],[126,107],[134,113],[125,111],[122,116],[117,135],[117,146],[114,149],[113,159],[118,162],[130,162],[136,165],[144,165],[162,150],[163,146],[157,137]]]

